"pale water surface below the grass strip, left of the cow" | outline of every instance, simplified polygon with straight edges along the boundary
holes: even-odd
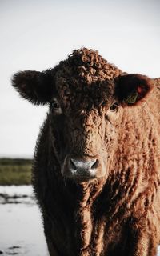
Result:
[[[48,255],[31,186],[0,186],[0,226],[2,256]]]

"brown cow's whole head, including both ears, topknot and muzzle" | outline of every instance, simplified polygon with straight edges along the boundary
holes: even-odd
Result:
[[[50,140],[62,175],[89,180],[107,174],[123,111],[140,104],[153,82],[122,74],[97,51],[83,48],[54,69],[15,74],[13,86],[22,98],[50,106]]]

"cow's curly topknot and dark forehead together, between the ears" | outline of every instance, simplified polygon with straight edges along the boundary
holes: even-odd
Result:
[[[98,51],[86,48],[74,50],[54,71],[62,104],[76,108],[110,101],[114,94],[114,78],[122,73],[98,55]]]

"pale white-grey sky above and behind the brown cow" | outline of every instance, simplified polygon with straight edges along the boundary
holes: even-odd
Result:
[[[130,73],[160,77],[159,0],[0,0],[0,156],[32,156],[46,107],[10,86],[86,46]]]

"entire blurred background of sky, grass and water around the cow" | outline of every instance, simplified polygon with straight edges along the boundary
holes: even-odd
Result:
[[[47,255],[30,186],[47,107],[19,98],[12,75],[54,67],[86,46],[126,72],[160,77],[159,10],[159,0],[0,0],[0,253]]]

